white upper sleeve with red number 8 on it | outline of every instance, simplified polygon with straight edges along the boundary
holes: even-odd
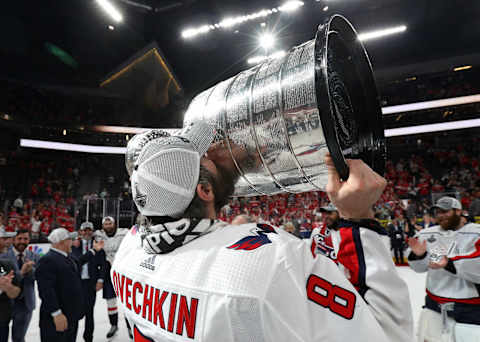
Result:
[[[267,341],[390,341],[330,259],[296,241],[277,257],[263,307]]]

